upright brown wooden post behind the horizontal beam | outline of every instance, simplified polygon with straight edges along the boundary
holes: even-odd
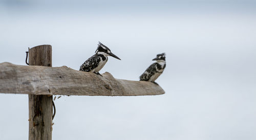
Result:
[[[52,67],[52,46],[29,49],[29,65]],[[52,139],[52,96],[29,95],[29,140]]]

